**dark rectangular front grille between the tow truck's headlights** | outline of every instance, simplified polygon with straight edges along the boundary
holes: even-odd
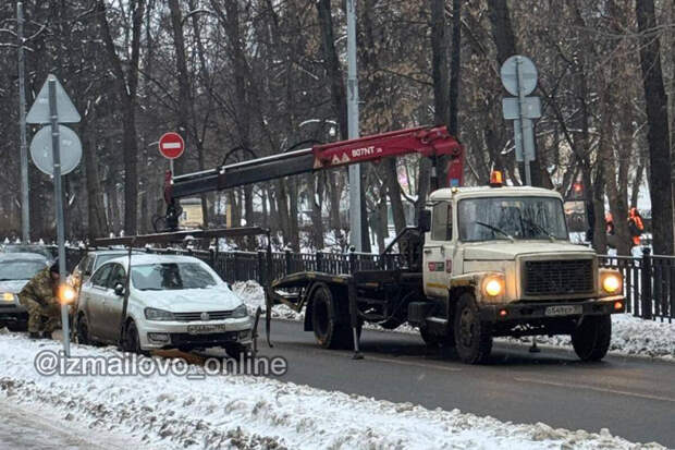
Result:
[[[594,292],[593,260],[528,260],[525,295],[578,295]]]

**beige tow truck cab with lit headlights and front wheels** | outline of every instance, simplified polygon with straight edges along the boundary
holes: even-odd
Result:
[[[569,242],[562,196],[538,187],[441,188],[422,231],[422,284],[434,305],[428,343],[484,361],[499,336],[570,335],[577,355],[602,358],[611,314],[623,313],[621,273]],[[428,215],[428,212],[427,212]]]

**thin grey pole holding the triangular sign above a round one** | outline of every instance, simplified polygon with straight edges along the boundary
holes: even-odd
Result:
[[[49,77],[49,115],[51,119],[51,145],[53,151],[54,168],[54,207],[57,209],[57,244],[59,245],[59,282],[65,280],[65,233],[63,226],[63,187],[61,185],[61,151],[59,136],[59,111],[57,110],[57,81]],[[71,356],[69,306],[61,305],[61,329],[63,331],[63,351],[65,356]]]

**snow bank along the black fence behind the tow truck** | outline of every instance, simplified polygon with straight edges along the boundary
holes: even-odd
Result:
[[[265,311],[265,293],[262,288],[255,281],[235,283],[234,291],[240,294],[251,311],[257,306],[262,306]],[[272,315],[273,317],[292,320],[304,318],[304,313],[298,314],[285,305],[274,306]],[[367,328],[378,329],[379,327],[367,326]],[[398,327],[396,331],[418,333],[416,328],[407,325]],[[529,342],[530,338],[518,340]],[[568,336],[541,336],[537,338],[537,342],[545,345],[572,348]],[[641,355],[675,361],[675,324],[643,320],[627,314],[614,315],[612,316],[610,352],[621,355]]]

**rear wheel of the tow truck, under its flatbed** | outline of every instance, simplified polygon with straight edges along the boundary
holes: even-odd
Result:
[[[311,325],[317,342],[324,349],[351,349],[353,337],[348,316],[341,317],[330,288],[319,285],[311,297]]]

